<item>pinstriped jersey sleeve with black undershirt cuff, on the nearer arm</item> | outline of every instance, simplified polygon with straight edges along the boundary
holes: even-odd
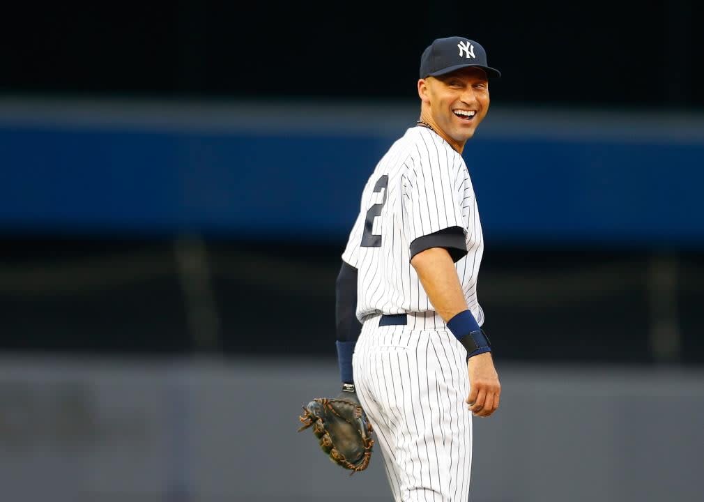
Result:
[[[402,187],[409,256],[442,247],[457,262],[467,254],[464,163],[423,136],[416,144],[417,151],[408,158]]]

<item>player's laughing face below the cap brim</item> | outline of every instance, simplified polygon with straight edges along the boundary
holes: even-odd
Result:
[[[464,144],[489,111],[486,73],[468,67],[424,80],[427,90],[422,94],[427,96],[434,122],[455,142]]]

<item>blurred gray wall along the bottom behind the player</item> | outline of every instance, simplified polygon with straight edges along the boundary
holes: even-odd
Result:
[[[253,334],[251,335],[253,336]],[[704,372],[498,361],[472,501],[700,501]],[[0,360],[3,501],[390,501],[296,433],[334,359]],[[331,494],[344,494],[331,496]]]

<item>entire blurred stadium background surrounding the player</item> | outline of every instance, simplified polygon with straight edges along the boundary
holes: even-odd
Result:
[[[410,16],[403,21],[398,16]],[[472,500],[700,501],[694,1],[14,6],[0,20],[3,501],[390,501],[296,434],[422,49],[504,74],[465,159],[502,408]],[[377,453],[379,455],[380,453]]]

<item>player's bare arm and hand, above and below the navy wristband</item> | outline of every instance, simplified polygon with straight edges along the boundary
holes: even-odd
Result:
[[[411,258],[410,264],[415,268],[433,308],[445,322],[451,324],[456,315],[468,310],[453,258],[446,249],[435,247],[420,251]],[[455,333],[455,336],[458,334]],[[488,417],[498,408],[501,394],[491,352],[471,356],[467,361],[467,371],[470,377],[467,404],[474,415]]]

